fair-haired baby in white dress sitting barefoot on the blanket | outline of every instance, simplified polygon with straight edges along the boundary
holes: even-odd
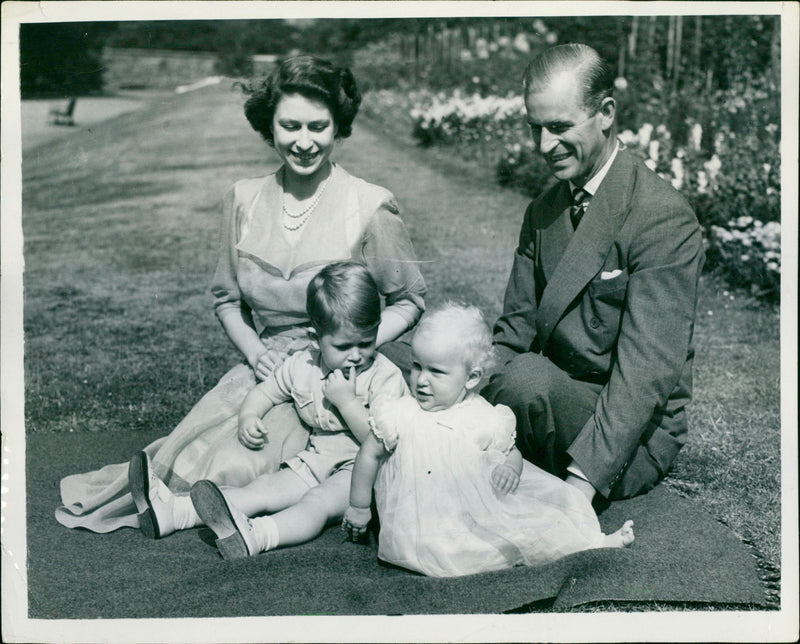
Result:
[[[540,565],[634,540],[605,535],[586,497],[523,461],[515,418],[475,390],[493,357],[480,311],[448,303],[411,343],[411,396],[381,398],[356,458],[343,528],[353,539],[380,516],[378,556],[435,577]]]

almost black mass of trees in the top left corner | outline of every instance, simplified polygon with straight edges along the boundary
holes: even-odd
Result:
[[[115,23],[20,25],[20,90],[31,96],[74,96],[103,88],[101,52]]]

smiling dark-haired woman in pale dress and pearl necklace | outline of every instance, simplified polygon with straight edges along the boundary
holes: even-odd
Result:
[[[367,266],[385,299],[378,346],[413,327],[424,309],[425,282],[393,195],[330,160],[361,102],[350,71],[297,56],[246,91],[245,116],[283,165],[237,182],[225,199],[211,291],[245,362],[145,448],[155,475],[177,493],[201,479],[246,485],[305,447],[307,431],[290,404],[270,411],[271,442],[257,451],[238,442],[237,413],[257,380],[309,345],[306,286],[322,266],[342,259]],[[61,498],[56,519],[67,527],[139,526],[127,463],[64,478]]]

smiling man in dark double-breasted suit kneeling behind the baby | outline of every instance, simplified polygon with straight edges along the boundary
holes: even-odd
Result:
[[[525,213],[494,331],[504,366],[483,391],[514,410],[528,460],[599,506],[651,489],[684,443],[704,261],[689,204],[620,148],[613,81],[579,44],[526,71],[559,181]]]

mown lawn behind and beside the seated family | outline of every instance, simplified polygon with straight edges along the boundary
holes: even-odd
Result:
[[[400,202],[431,303],[500,310],[526,199],[356,123],[334,159]],[[211,310],[220,202],[274,168],[225,85],[154,100],[23,159],[28,432],[180,420],[236,360]],[[780,565],[778,317],[702,286],[690,443],[667,484]],[[87,469],[102,465],[87,463]]]

